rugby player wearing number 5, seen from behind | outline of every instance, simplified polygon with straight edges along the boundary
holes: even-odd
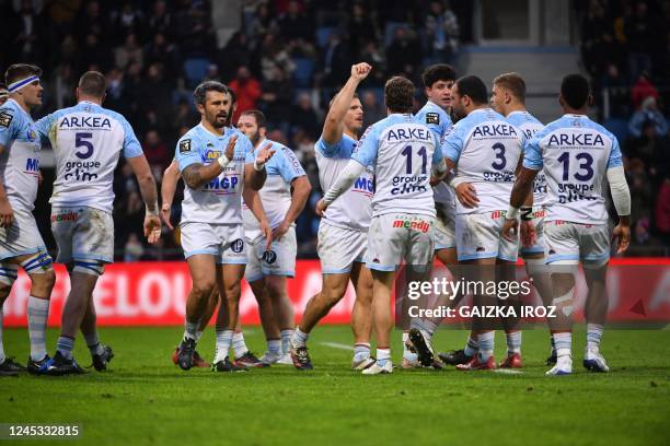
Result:
[[[114,261],[114,171],[123,153],[137,177],[146,204],[143,232],[150,244],[161,235],[158,193],[151,168],[128,121],[105,109],[106,81],[97,71],[85,72],[77,86],[77,105],[57,110],[37,122],[56,157],[51,232],[58,245],[56,261],[70,274],[56,354],[45,373],[81,373],[72,357],[81,331],[96,371],[105,371],[112,349],[100,343],[93,290],[105,263]]]

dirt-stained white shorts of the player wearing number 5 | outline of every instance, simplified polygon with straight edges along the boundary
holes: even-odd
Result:
[[[109,212],[88,207],[54,207],[51,233],[58,245],[59,263],[114,261],[114,219]]]

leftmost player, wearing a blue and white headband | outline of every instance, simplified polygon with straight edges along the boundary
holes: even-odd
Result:
[[[56,275],[33,216],[42,143],[31,110],[42,105],[41,75],[36,66],[9,67],[4,73],[9,99],[0,106],[0,374],[8,375],[26,368],[38,373],[49,361],[45,331]],[[31,278],[27,367],[5,357],[2,345],[2,304],[16,280],[18,267]]]

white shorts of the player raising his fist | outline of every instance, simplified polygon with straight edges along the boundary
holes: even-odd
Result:
[[[340,274],[351,271],[355,261],[363,262],[368,250],[368,234],[363,231],[344,230],[319,223],[319,245],[316,251],[323,274]]]

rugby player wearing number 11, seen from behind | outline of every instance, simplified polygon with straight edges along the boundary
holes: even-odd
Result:
[[[366,375],[393,372],[390,334],[395,271],[403,260],[408,271],[430,271],[436,218],[430,176],[440,179],[447,172],[439,140],[411,114],[412,82],[391,78],[384,86],[384,102],[389,116],[366,130],[351,160],[316,207],[323,214],[368,166],[374,166],[377,186],[366,265],[373,277],[377,361],[362,371]]]

